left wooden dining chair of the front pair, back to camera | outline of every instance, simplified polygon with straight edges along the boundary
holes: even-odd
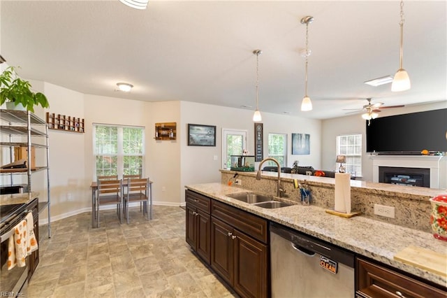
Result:
[[[98,180],[96,192],[96,227],[99,227],[99,207],[104,205],[117,205],[119,223],[122,222],[122,180]]]

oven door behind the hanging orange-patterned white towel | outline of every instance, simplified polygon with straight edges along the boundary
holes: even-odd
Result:
[[[10,234],[12,233],[7,232],[0,237],[0,296],[26,297],[29,257],[27,257],[27,266],[15,266],[13,269],[8,270],[8,235]]]

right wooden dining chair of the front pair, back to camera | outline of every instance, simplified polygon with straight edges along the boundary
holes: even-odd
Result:
[[[124,187],[124,213],[126,221],[129,224],[129,203],[141,202],[142,214],[147,213],[147,220],[152,214],[152,197],[149,192],[149,178],[128,178],[126,186]],[[150,213],[148,208],[150,208]]]

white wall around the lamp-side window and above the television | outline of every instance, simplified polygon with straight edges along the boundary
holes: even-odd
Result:
[[[447,101],[433,104],[405,106],[404,108],[383,109],[379,117],[400,115],[422,111],[447,108]],[[372,120],[374,121],[374,120]],[[337,136],[341,134],[362,134],[362,179],[372,181],[372,159],[366,152],[366,125],[361,114],[350,115],[342,118],[323,120],[321,134],[321,162],[323,169],[335,170],[335,157],[337,155]]]

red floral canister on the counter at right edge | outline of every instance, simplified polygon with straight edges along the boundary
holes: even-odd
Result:
[[[447,194],[439,194],[430,199],[432,204],[432,215],[430,225],[432,225],[433,236],[436,239],[447,241]]]

